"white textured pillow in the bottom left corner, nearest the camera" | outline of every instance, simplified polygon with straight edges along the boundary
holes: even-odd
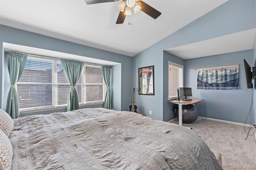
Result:
[[[12,166],[12,144],[0,129],[0,169],[10,170]]]

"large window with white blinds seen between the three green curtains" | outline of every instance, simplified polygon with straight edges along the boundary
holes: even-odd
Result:
[[[21,110],[67,105],[70,84],[60,60],[28,57],[17,83]],[[76,85],[79,104],[103,102],[106,95],[100,66],[84,65]]]

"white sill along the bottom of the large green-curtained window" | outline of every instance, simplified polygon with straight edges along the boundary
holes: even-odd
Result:
[[[83,106],[90,106],[90,105],[100,105],[103,104],[104,101],[101,102],[94,102],[94,103],[87,103],[87,104],[81,104],[79,107]],[[43,111],[54,111],[54,110],[60,110],[60,109],[67,109],[67,106],[57,106],[57,107],[47,107],[47,108],[37,108],[37,109],[29,109],[29,110],[21,110],[20,114],[26,114],[26,113],[35,113],[35,112],[43,112]]]

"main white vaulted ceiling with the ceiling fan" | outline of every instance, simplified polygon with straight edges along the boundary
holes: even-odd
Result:
[[[154,20],[140,11],[132,14],[133,24],[128,25],[128,17],[124,24],[116,24],[119,2],[88,5],[84,0],[0,0],[0,24],[134,56],[226,0],[144,2],[162,14]]]

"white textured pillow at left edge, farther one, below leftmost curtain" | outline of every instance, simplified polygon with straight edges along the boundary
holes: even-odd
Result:
[[[9,137],[13,126],[13,120],[10,115],[0,109],[0,129],[7,135],[7,137]]]

